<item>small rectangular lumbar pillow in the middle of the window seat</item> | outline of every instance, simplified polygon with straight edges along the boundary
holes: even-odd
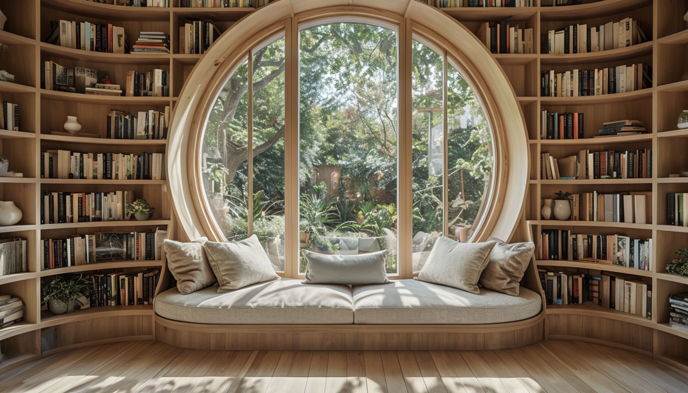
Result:
[[[336,255],[304,250],[306,259],[303,284],[387,284],[387,250],[374,253]]]

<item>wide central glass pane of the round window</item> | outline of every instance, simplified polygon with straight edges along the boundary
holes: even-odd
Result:
[[[331,23],[301,30],[299,44],[301,247],[387,248],[397,273],[397,34]]]

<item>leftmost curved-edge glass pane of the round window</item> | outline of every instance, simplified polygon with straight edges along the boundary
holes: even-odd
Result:
[[[217,94],[203,135],[201,172],[215,224],[229,240],[248,235],[248,62]]]

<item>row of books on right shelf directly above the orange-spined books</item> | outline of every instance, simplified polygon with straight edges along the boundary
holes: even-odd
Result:
[[[540,76],[543,97],[599,96],[634,92],[649,86],[652,86],[651,68],[642,63],[591,70],[549,70]]]

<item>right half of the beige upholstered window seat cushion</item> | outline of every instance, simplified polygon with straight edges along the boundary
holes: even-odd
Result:
[[[400,279],[354,286],[354,323],[502,323],[537,315],[542,300],[521,288],[519,296],[482,289],[480,295],[438,284]]]

